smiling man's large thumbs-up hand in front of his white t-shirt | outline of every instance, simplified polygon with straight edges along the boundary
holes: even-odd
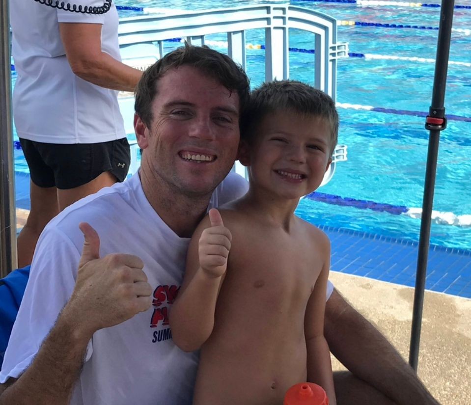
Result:
[[[98,329],[120,324],[150,308],[152,288],[139,257],[112,253],[100,258],[100,238],[86,222],[75,288],[65,316],[90,338]]]

